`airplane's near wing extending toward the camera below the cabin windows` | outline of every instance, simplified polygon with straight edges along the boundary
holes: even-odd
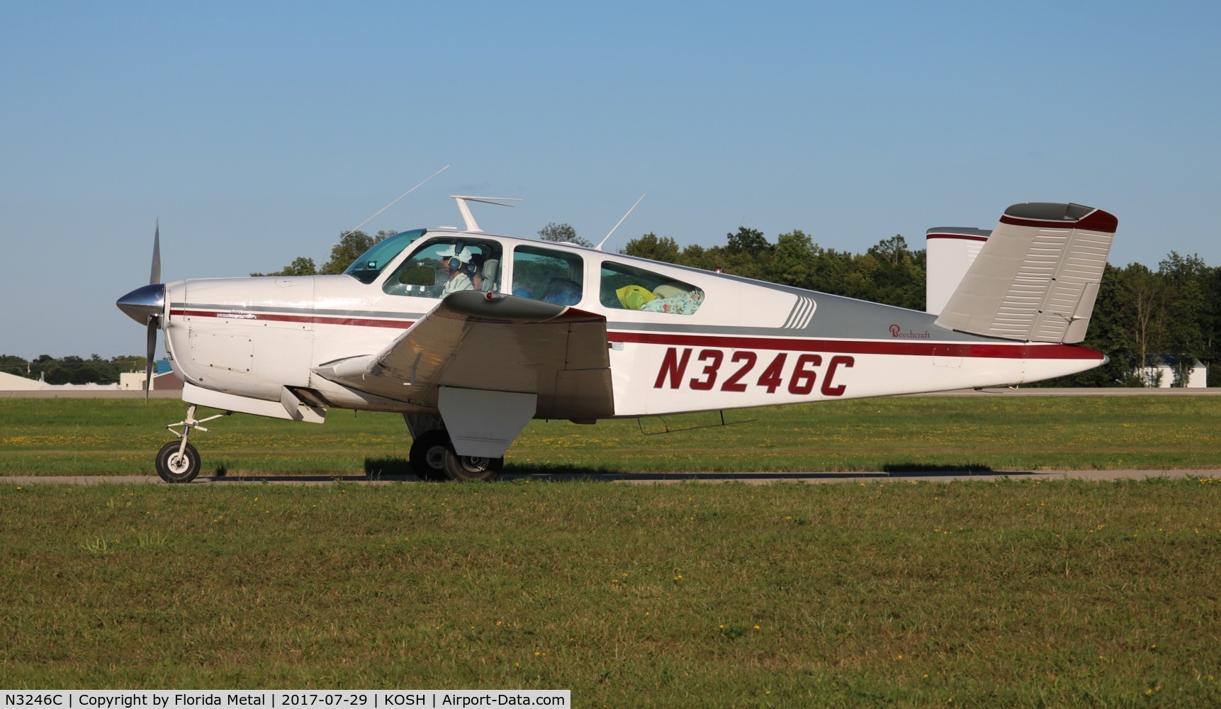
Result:
[[[314,372],[422,408],[438,410],[442,389],[464,389],[535,395],[535,418],[590,419],[614,413],[607,348],[601,315],[459,291],[377,354],[328,362]]]

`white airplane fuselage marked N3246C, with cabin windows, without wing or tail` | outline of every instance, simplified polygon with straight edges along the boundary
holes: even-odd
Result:
[[[166,348],[177,375],[206,390],[278,402],[294,388],[327,406],[435,413],[315,369],[383,351],[454,281],[604,317],[615,417],[1011,385],[1105,361],[946,330],[917,310],[452,229],[391,237],[342,275],[167,284]]]

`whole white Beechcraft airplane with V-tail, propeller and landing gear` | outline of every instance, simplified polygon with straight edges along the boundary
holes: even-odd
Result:
[[[194,479],[190,433],[233,412],[402,413],[420,478],[492,480],[535,418],[1010,386],[1106,362],[1079,342],[1118,221],[1092,207],[1005,209],[945,306],[926,313],[497,235],[468,203],[504,199],[451,197],[464,229],[397,233],[342,275],[162,284],[159,226],[149,285],[116,303],[147,326],[145,391],[158,329],[183,381],[187,414],[167,425],[177,440],[158,474]],[[223,413],[200,419],[197,407]]]

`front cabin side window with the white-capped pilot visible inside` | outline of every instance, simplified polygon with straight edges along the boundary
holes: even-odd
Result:
[[[499,291],[501,244],[437,237],[410,255],[382,290],[392,296],[443,298],[455,291]]]

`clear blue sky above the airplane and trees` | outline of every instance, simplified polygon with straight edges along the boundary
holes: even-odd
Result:
[[[1111,262],[1221,264],[1215,2],[0,0],[0,353],[138,353],[164,279],[322,263],[346,230],[609,247],[801,229],[860,252],[1049,200]]]

